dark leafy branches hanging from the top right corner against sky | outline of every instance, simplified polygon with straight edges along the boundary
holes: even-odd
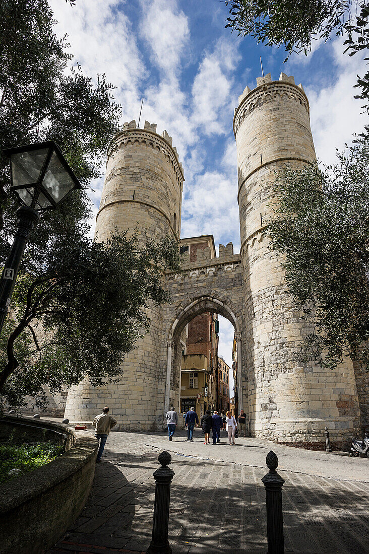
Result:
[[[345,38],[343,44],[350,56],[369,47],[367,0],[226,0],[225,4],[229,6],[226,27],[256,38],[257,43],[282,46],[288,54],[307,55],[314,40],[328,40],[332,34]],[[361,93],[355,98],[365,100],[363,107],[368,112],[369,71],[357,78],[355,86]]]

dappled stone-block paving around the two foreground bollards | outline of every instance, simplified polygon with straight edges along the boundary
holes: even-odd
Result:
[[[160,450],[134,454],[107,448],[109,461],[97,465],[87,506],[49,553],[108,554],[122,548],[145,552],[151,540],[153,471],[159,466]],[[175,472],[169,515],[173,554],[266,552],[261,483],[266,469],[176,454],[170,468]],[[289,471],[280,474],[286,481],[286,552],[368,552],[366,488]]]

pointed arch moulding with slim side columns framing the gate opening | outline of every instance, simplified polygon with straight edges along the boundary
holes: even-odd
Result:
[[[188,298],[187,304],[181,306],[174,319],[170,321],[167,330],[167,352],[166,352],[166,378],[165,378],[165,397],[164,397],[164,415],[169,409],[169,404],[173,396],[178,397],[180,401],[180,379],[179,390],[174,391],[173,385],[175,383],[174,375],[180,375],[181,372],[181,356],[179,352],[180,336],[185,326],[194,319],[195,316],[203,314],[204,312],[215,312],[231,322],[235,329],[235,337],[237,342],[237,360],[239,363],[240,371],[237,372],[237,389],[242,391],[239,399],[239,408],[244,409],[244,394],[246,392],[244,379],[242,379],[242,319],[240,315],[236,315],[236,308],[231,305],[231,301],[220,300],[215,294],[200,294],[193,299]],[[247,412],[248,412],[247,407]]]

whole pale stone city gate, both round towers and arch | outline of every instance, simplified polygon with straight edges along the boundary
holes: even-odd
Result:
[[[234,132],[241,252],[234,254],[230,243],[220,245],[219,257],[210,248],[198,249],[194,257],[184,247],[183,274],[163,276],[171,302],[151,309],[150,332],[127,356],[120,382],[73,387],[65,407],[69,418],[91,419],[109,404],[122,430],[161,429],[170,404],[179,408],[184,327],[201,312],[213,311],[235,328],[239,405],[249,414],[252,435],[309,444],[321,442],[326,425],[333,442],[357,432],[360,408],[351,360],[335,371],[295,361],[309,327],[286,294],[281,260],[263,233],[276,172],[315,158],[304,89],[283,73],[278,81],[270,74],[257,79],[256,88],[246,87],[239,98]],[[160,136],[148,122],[144,129],[135,121],[125,124],[108,152],[95,240],[137,222],[142,243],[148,236],[180,233],[183,179],[166,131]]]

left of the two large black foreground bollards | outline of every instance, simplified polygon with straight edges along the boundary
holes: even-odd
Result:
[[[168,468],[168,464],[171,462],[169,452],[166,452],[166,450],[161,452],[158,460],[161,467],[153,473],[155,478],[153,536],[146,554],[171,554],[168,541],[168,527],[170,481],[174,477],[174,471]]]

